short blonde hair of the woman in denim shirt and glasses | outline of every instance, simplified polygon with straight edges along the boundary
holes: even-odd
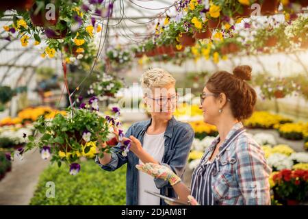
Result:
[[[175,78],[170,73],[162,68],[150,68],[142,74],[140,79],[142,90],[146,93],[146,90],[153,88],[162,88],[170,84],[175,85]]]

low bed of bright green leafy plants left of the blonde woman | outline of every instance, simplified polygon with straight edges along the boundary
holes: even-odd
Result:
[[[67,172],[66,165],[45,169],[30,205],[125,205],[126,165],[107,172],[89,160],[82,164],[78,175]],[[48,181],[55,183],[55,198],[46,197]]]

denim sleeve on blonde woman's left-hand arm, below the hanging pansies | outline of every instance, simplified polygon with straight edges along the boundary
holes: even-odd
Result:
[[[129,136],[131,136],[132,129],[133,127],[129,127],[129,129],[125,133],[126,138],[129,138]],[[118,143],[118,145],[110,149],[111,160],[108,164],[105,164],[105,165],[101,164],[101,162],[99,162],[98,155],[95,157],[95,163],[99,165],[103,170],[107,170],[107,171],[114,171],[120,168],[121,166],[123,166],[124,164],[126,164],[127,157],[122,155],[122,150],[120,149],[120,146],[121,144]]]

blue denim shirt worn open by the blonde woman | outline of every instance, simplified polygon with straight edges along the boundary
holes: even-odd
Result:
[[[134,123],[125,133],[125,137],[135,136],[143,144],[143,137],[146,129],[151,125],[151,119]],[[168,121],[166,131],[164,133],[164,156],[162,161],[158,161],[161,165],[168,166],[183,181],[183,173],[185,164],[190,153],[192,141],[194,140],[194,131],[188,123],[177,121],[174,116]],[[129,151],[127,157],[121,153],[120,143],[111,150],[111,161],[109,164],[102,165],[99,158],[95,158],[95,162],[103,168],[103,170],[114,171],[123,164],[127,164],[126,174],[126,204],[138,205],[138,170],[136,164],[139,158]],[[175,191],[168,181],[163,179],[153,179],[155,185],[160,189],[160,194],[168,197],[176,197]],[[164,201],[160,201],[160,205],[166,205]]]

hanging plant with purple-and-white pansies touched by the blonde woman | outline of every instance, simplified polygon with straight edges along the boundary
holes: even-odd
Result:
[[[87,103],[80,103],[79,109],[68,107],[66,116],[55,114],[50,120],[41,116],[34,125],[34,135],[28,137],[25,152],[39,149],[43,159],[51,157],[51,162],[58,166],[66,162],[70,165],[70,174],[77,174],[79,157],[88,157],[89,153],[90,157],[95,155],[95,147],[109,140],[110,127],[120,125],[116,118],[101,116],[98,110],[98,99],[92,96]],[[119,115],[118,108],[113,111]],[[110,147],[102,148],[99,156]]]

